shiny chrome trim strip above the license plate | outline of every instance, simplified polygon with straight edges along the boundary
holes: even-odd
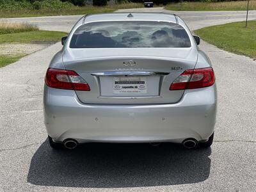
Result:
[[[152,72],[152,71],[108,71],[95,72],[92,76],[167,76],[168,72]]]

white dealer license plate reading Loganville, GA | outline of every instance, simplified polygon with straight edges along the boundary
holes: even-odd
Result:
[[[147,93],[147,77],[113,77],[113,92]]]

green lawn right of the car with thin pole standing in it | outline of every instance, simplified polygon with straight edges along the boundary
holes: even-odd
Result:
[[[256,58],[256,20],[232,22],[194,31],[203,40],[220,49]]]

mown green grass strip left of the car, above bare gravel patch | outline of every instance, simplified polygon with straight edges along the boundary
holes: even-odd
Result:
[[[59,42],[67,33],[58,31],[27,31],[0,35],[0,44]]]

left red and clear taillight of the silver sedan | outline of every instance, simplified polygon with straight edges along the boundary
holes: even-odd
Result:
[[[48,68],[45,83],[52,88],[90,91],[89,84],[72,70]]]

